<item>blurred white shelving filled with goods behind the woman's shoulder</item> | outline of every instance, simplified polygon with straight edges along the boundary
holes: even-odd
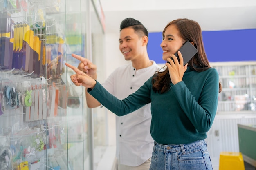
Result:
[[[218,113],[256,111],[256,62],[211,63],[219,73],[222,92]]]

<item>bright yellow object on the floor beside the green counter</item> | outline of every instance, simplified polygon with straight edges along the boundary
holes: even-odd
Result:
[[[219,170],[245,170],[241,152],[220,152]]]

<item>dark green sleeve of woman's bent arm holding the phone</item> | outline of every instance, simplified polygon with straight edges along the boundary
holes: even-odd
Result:
[[[181,108],[199,133],[206,133],[213,124],[218,105],[219,77],[211,69],[204,79],[198,101],[182,81],[171,87]],[[186,96],[186,97],[184,97]]]

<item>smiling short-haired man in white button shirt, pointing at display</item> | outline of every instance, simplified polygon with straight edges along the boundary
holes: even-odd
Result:
[[[103,83],[104,88],[119,99],[124,99],[146,82],[161,68],[150,61],[147,53],[148,31],[133,18],[126,18],[120,24],[119,49],[125,60],[131,63],[118,67]],[[78,68],[97,79],[96,66],[89,60],[72,55],[81,61]],[[77,82],[74,82],[76,84]],[[101,104],[86,91],[89,108]],[[153,149],[150,135],[150,104],[139,110],[116,117],[117,160],[119,170],[148,170]]]

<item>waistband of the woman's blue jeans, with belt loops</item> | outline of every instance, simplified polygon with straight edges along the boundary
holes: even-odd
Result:
[[[204,145],[204,144],[206,144],[205,140],[198,140],[198,141],[195,141],[195,142],[192,142],[189,144],[175,144],[175,145],[171,145],[171,144],[170,145],[162,145],[162,144],[158,144],[155,141],[154,148],[156,148],[159,151],[163,151],[163,152],[164,151],[177,151],[177,150],[182,150],[182,152],[183,152],[185,149],[193,148],[193,147]]]

